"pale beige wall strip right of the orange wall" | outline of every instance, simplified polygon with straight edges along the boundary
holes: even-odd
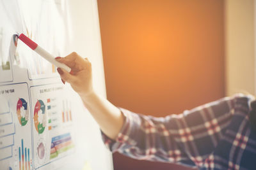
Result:
[[[255,0],[225,1],[225,91],[255,95]]]

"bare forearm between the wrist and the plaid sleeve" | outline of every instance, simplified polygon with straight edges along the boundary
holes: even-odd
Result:
[[[84,105],[92,114],[92,117],[99,124],[100,129],[109,138],[115,139],[124,124],[124,116],[107,99],[98,96],[93,92],[87,96],[81,96]]]

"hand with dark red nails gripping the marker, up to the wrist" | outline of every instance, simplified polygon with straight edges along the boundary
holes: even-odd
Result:
[[[57,69],[63,83],[65,81],[70,83],[71,87],[81,97],[93,93],[92,64],[87,58],[83,59],[76,52],[72,52],[66,57],[56,57],[56,60],[71,68],[70,73],[61,68]]]

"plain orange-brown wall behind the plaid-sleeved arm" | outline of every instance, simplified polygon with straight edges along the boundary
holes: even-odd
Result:
[[[222,0],[98,0],[109,101],[145,115],[224,96]],[[170,164],[114,154],[115,170]]]

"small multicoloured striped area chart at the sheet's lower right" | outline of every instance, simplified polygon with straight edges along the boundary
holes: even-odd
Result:
[[[73,147],[74,144],[72,143],[70,133],[52,138],[50,159],[58,157],[61,153],[67,152],[67,150],[70,150]]]

